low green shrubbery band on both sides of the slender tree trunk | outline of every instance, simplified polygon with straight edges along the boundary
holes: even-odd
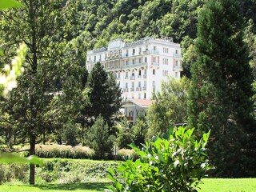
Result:
[[[42,183],[77,183],[106,182],[107,171],[120,163],[111,161],[90,161],[77,159],[44,159],[42,166],[37,166],[36,182]],[[27,164],[0,163],[0,183],[27,183],[29,166]]]

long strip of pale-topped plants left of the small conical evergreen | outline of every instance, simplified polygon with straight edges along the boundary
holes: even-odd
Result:
[[[87,146],[36,145],[39,158],[92,158],[94,150]]]

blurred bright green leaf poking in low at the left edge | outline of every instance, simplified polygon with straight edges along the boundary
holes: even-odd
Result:
[[[42,166],[42,160],[35,155],[28,158],[22,158],[15,154],[0,154],[0,162],[7,163],[34,163],[35,165]]]

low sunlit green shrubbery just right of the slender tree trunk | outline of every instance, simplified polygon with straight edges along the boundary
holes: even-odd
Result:
[[[46,159],[38,167],[38,177],[45,182],[74,183],[106,178],[108,169],[114,169],[119,162],[103,162],[74,159]]]

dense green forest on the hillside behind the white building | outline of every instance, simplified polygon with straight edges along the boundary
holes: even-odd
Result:
[[[133,41],[146,36],[172,37],[174,42],[182,44],[183,74],[190,77],[190,66],[194,62],[191,44],[197,37],[198,13],[204,4],[203,0],[75,2],[74,9],[77,11],[72,15],[75,21],[67,27],[67,39],[76,38],[85,50],[90,50],[106,46],[115,38]],[[250,26],[250,33],[254,35],[256,2],[239,2],[246,25]],[[248,38],[254,40],[252,34]]]

